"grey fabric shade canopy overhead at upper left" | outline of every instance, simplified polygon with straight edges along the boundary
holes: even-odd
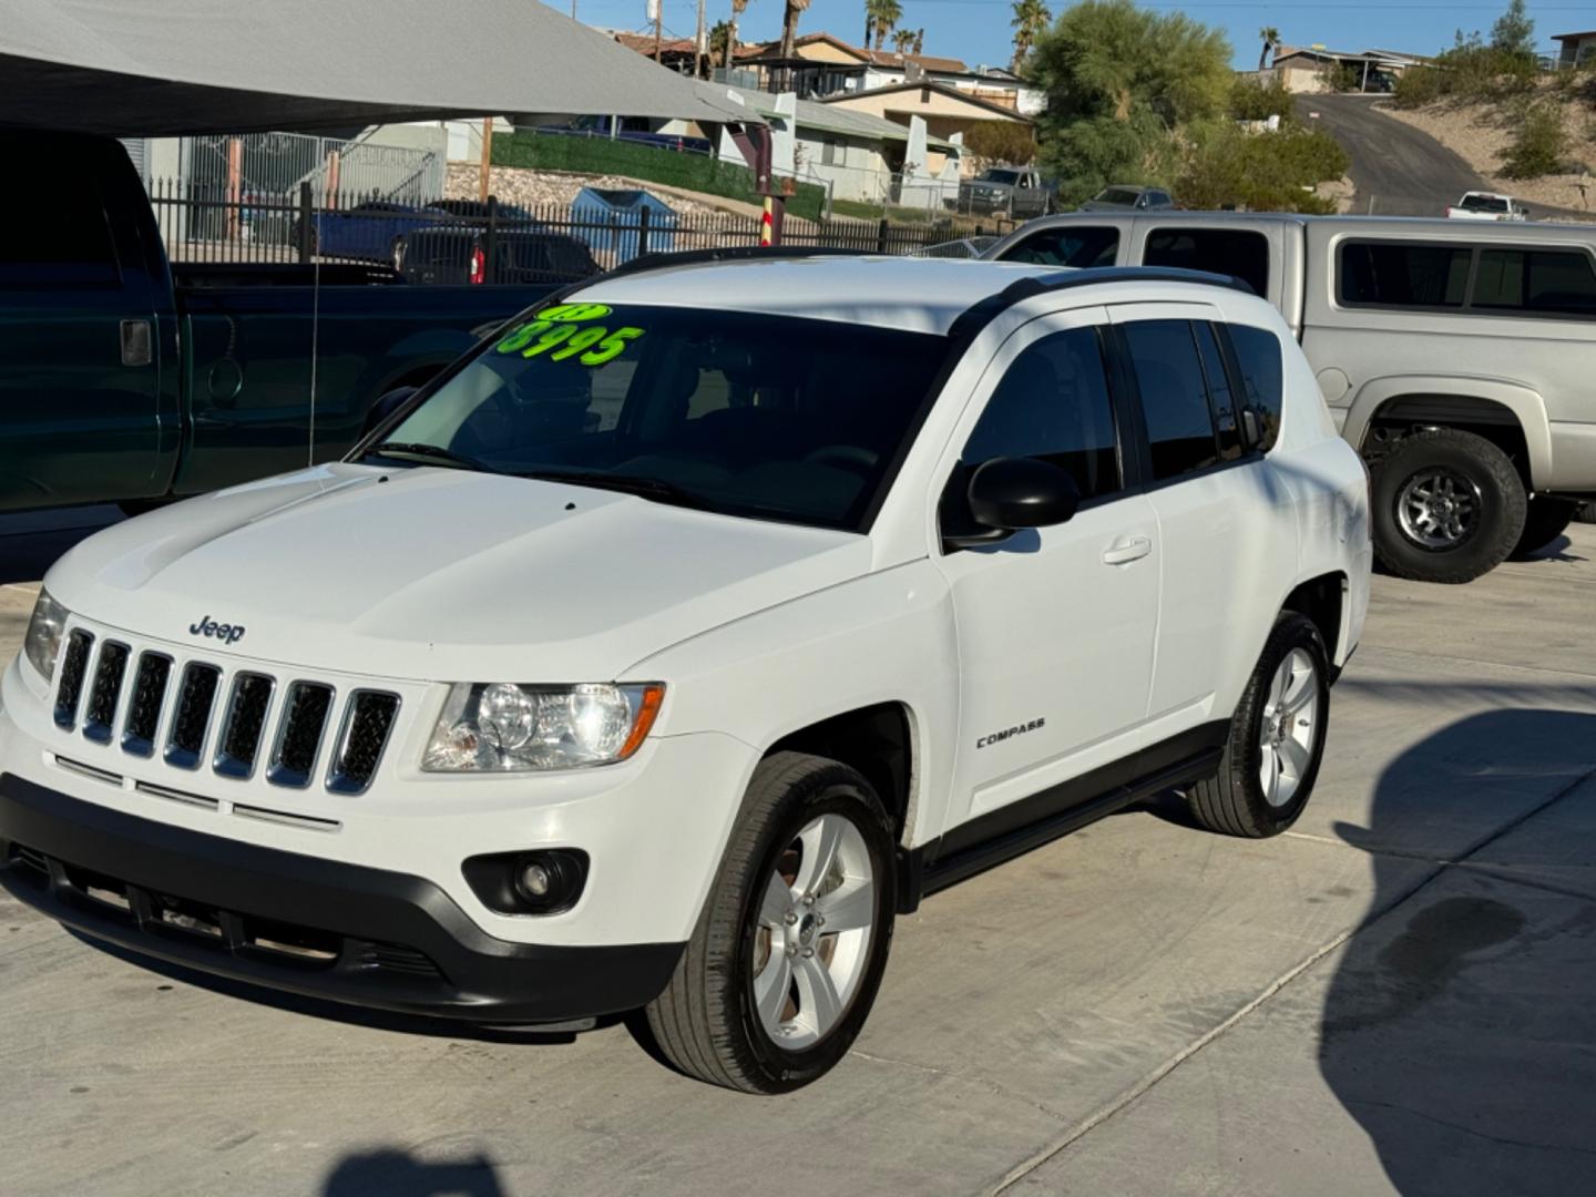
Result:
[[[0,124],[117,137],[500,113],[763,124],[536,0],[5,0]]]

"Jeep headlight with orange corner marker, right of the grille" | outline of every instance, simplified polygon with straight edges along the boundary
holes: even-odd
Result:
[[[421,768],[428,772],[520,772],[624,761],[654,726],[658,683],[450,688]]]

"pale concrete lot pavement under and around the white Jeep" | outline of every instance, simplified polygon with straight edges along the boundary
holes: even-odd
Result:
[[[787,1098],[622,1026],[458,1034],[156,970],[0,897],[0,1187],[1591,1192],[1593,559],[1578,525],[1467,587],[1376,579],[1291,833],[1157,801],[938,894]],[[0,587],[0,651],[30,602]]]

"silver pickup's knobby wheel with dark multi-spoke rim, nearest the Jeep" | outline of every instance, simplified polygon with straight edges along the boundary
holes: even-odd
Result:
[[[1472,583],[1505,562],[1524,531],[1524,480],[1483,436],[1412,433],[1371,472],[1374,555],[1398,578]]]

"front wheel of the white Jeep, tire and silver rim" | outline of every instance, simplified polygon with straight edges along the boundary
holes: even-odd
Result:
[[[881,986],[895,881],[892,820],[863,777],[796,752],[761,761],[697,927],[648,1005],[659,1050],[749,1093],[824,1076]]]

